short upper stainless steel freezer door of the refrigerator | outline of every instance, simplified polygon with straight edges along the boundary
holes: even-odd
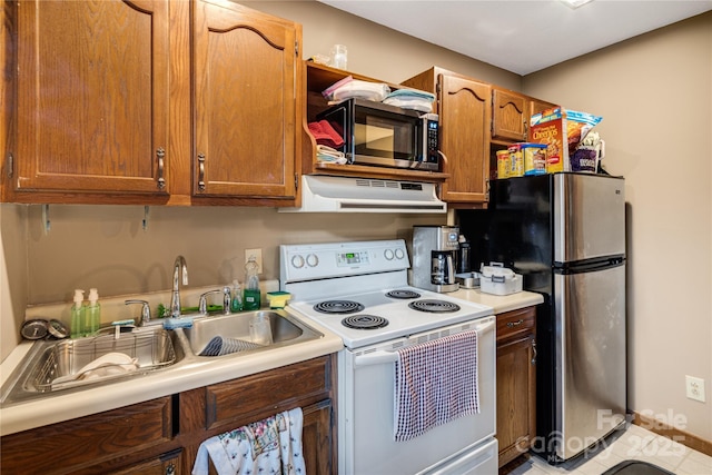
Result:
[[[622,178],[553,175],[554,263],[625,255]]]

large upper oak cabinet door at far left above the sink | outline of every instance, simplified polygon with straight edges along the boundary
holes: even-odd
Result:
[[[168,1],[22,1],[14,188],[165,195]]]

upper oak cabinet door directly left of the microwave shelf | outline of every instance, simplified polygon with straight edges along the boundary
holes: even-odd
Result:
[[[293,198],[297,27],[197,1],[194,36],[194,195]]]

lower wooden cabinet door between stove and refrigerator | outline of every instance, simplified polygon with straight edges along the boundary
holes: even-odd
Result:
[[[535,342],[528,335],[497,345],[500,466],[526,453],[536,431]]]

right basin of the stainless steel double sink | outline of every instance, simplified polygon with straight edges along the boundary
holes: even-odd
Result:
[[[249,321],[255,317],[269,317],[273,344],[266,346],[251,345]],[[237,343],[244,343],[241,350],[236,350],[220,357],[236,356],[243,353],[264,352],[276,347],[294,345],[300,342],[316,339],[323,335],[308,325],[293,318],[284,310],[256,310],[231,315],[207,316],[194,318],[191,328],[179,328],[188,340],[190,352],[198,356],[215,337],[222,337]],[[214,356],[206,356],[214,357]]]

